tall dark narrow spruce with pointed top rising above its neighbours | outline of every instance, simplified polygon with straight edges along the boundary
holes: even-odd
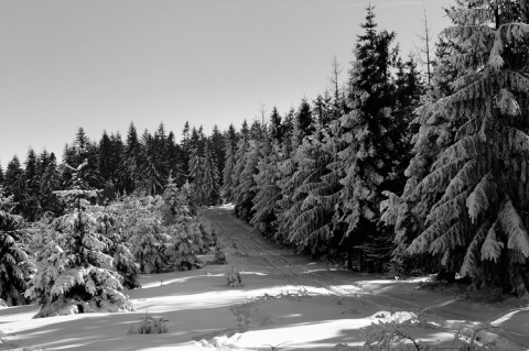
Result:
[[[353,68],[349,73],[347,105],[352,111],[341,118],[343,139],[348,146],[339,153],[345,177],[337,221],[345,226],[343,244],[361,248],[371,264],[381,270],[387,260],[390,238],[377,228],[381,191],[392,171],[393,106],[390,45],[395,33],[377,32],[374,8],[367,8],[365,33],[358,35]],[[380,240],[382,242],[380,242]],[[380,252],[381,251],[381,252]],[[352,253],[352,252],[350,252]]]

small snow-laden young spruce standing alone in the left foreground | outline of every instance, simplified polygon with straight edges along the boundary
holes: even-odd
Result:
[[[134,310],[121,293],[123,278],[115,259],[107,253],[115,242],[100,232],[100,216],[90,209],[88,199],[97,191],[83,189],[79,180],[56,194],[69,209],[44,233],[47,243],[37,255],[37,272],[25,292],[42,306],[34,318]]]

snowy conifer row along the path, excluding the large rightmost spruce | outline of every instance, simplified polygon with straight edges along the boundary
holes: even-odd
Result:
[[[235,213],[278,243],[348,268],[381,271],[392,230],[380,221],[384,191],[400,193],[412,157],[410,123],[427,86],[395,33],[368,9],[347,85],[280,116],[264,135],[244,129],[226,145],[223,194]],[[333,65],[336,83],[339,67]]]

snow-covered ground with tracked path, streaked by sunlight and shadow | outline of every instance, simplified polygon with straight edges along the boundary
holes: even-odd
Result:
[[[0,350],[356,350],[371,322],[409,319],[406,331],[431,344],[451,344],[475,325],[492,327],[479,340],[498,350],[529,350],[521,300],[467,303],[418,290],[415,281],[338,271],[276,248],[230,213],[205,212],[229,264],[143,275],[143,288],[128,292],[136,312],[31,319],[37,307],[0,309]],[[241,287],[225,284],[230,264]],[[169,332],[127,334],[145,315],[168,319]]]

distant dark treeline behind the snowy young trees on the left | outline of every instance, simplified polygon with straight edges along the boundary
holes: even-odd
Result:
[[[201,128],[184,124],[180,143],[163,123],[154,132],[139,135],[130,124],[126,140],[119,133],[105,131],[99,141],[90,140],[79,128],[73,142],[64,147],[61,160],[54,153],[36,154],[30,149],[23,162],[18,156],[0,166],[0,185],[12,195],[13,213],[34,221],[45,213],[57,216],[63,208],[54,191],[67,189],[73,171],[83,167],[87,186],[104,189],[100,201],[125,194],[160,195],[171,177],[177,186],[186,182],[195,189],[196,204],[220,202],[219,168],[224,167],[225,139],[237,141],[235,128],[224,133],[217,127],[209,136]]]

